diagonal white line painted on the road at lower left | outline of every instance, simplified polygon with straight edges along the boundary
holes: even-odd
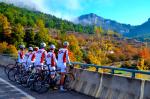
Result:
[[[12,88],[14,88],[15,90],[19,91],[21,94],[25,95],[27,98],[29,99],[35,99],[33,96],[29,95],[28,93],[22,91],[21,89],[17,88],[16,86],[10,84],[8,81],[0,78],[0,81],[4,82],[5,84],[8,84],[9,86],[11,86]]]

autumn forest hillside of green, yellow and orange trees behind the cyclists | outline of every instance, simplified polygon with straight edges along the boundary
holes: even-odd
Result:
[[[70,43],[71,61],[116,65],[123,68],[149,70],[150,49],[142,43],[130,44],[112,30],[82,26],[37,11],[0,3],[0,53],[17,55],[18,46],[39,46],[41,42],[56,45],[56,53],[64,41]]]

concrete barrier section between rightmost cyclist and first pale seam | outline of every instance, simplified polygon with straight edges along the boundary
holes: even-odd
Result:
[[[72,82],[71,88],[77,92],[84,93],[86,95],[95,96],[99,88],[101,78],[99,73],[89,72],[85,70],[76,70],[76,79]]]

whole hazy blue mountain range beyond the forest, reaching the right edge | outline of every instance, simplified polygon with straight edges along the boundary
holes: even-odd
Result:
[[[81,15],[77,18],[77,24],[101,26],[104,30],[113,30],[127,37],[135,37],[143,34],[150,36],[150,18],[141,25],[132,26],[130,24],[121,24],[119,22],[105,19],[94,13]]]

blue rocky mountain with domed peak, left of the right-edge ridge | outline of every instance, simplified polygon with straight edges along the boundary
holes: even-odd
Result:
[[[81,15],[77,18],[76,23],[82,25],[96,25],[101,26],[104,30],[113,30],[118,33],[128,33],[132,26],[130,24],[121,24],[116,21],[102,18],[94,13]]]

